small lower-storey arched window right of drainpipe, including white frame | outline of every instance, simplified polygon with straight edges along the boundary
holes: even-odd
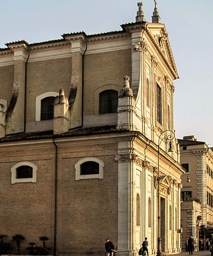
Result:
[[[75,163],[75,180],[103,179],[104,162],[96,157],[85,157]]]

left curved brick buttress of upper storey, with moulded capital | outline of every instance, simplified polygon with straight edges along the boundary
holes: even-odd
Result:
[[[28,44],[25,41],[7,44],[13,50],[14,81],[12,97],[6,111],[6,134],[24,131],[25,122],[25,72]]]

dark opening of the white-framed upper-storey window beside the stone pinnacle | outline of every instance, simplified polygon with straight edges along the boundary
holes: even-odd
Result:
[[[54,116],[54,101],[55,97],[46,97],[41,100],[41,120],[50,120]]]

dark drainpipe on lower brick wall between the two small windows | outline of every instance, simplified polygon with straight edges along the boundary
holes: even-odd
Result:
[[[53,144],[55,146],[55,215],[54,215],[54,250],[53,255],[56,256],[56,236],[57,236],[57,195],[58,195],[58,147],[55,144],[55,139],[53,139]]]

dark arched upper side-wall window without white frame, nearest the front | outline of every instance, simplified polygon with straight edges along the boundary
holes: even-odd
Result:
[[[99,94],[99,114],[116,113],[118,108],[118,92],[105,90]]]

